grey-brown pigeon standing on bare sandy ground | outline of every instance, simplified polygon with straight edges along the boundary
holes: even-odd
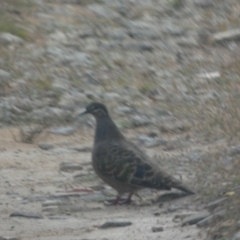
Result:
[[[99,102],[88,104],[81,113],[96,119],[92,165],[97,175],[117,191],[109,205],[131,203],[134,194],[144,188],[156,190],[179,189],[195,194],[180,180],[162,170],[142,149],[125,138],[109,115],[107,107]],[[126,199],[123,195],[128,194]]]

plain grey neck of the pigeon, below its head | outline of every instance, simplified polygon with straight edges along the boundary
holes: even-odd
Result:
[[[125,139],[116,124],[109,116],[102,116],[97,119],[94,143],[105,140]]]

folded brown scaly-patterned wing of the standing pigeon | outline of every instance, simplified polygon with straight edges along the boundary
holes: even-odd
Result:
[[[97,167],[102,175],[139,188],[171,189],[173,178],[141,151],[118,142],[103,143],[96,148]]]

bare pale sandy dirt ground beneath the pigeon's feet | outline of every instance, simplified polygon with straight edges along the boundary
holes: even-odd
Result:
[[[132,205],[105,206],[101,192],[112,191],[95,175],[91,168],[91,153],[73,150],[73,147],[91,146],[92,134],[74,134],[70,137],[45,136],[54,144],[51,150],[42,150],[38,144],[14,140],[18,129],[0,130],[1,237],[18,239],[203,239],[196,226],[181,226],[173,220],[176,215],[198,211],[196,196],[172,200],[160,206],[134,198]],[[38,140],[38,141],[41,141]],[[152,150],[151,150],[152,151]],[[148,152],[150,154],[150,152]],[[63,172],[62,162],[83,166],[83,170]],[[78,181],[76,176],[78,175]],[[93,193],[68,193],[71,187],[105,186]],[[94,187],[93,187],[94,188]],[[145,199],[152,195],[140,193]],[[140,204],[137,204],[140,203]],[[14,212],[40,214],[42,218],[10,217]],[[101,229],[106,221],[130,221],[132,225]],[[163,227],[153,232],[152,227]]]

